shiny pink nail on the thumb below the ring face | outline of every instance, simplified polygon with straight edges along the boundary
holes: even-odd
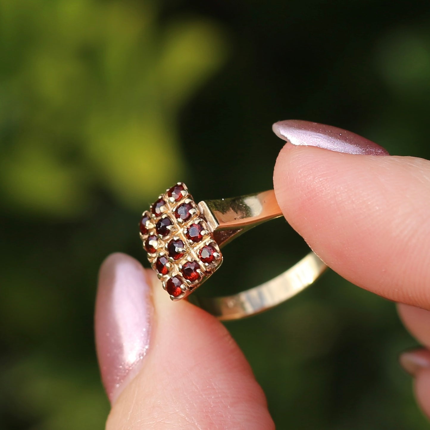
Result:
[[[144,359],[151,335],[151,287],[141,264],[112,254],[101,265],[95,343],[101,379],[113,403]]]

